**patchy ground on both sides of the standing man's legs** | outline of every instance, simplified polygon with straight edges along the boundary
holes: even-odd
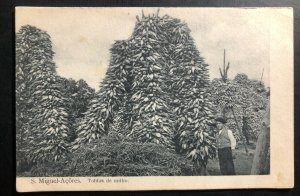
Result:
[[[252,161],[254,157],[255,145],[256,144],[254,143],[250,143],[250,145],[247,145],[249,151],[248,155],[246,154],[245,148],[242,143],[238,143],[237,149],[233,150],[233,156],[234,156],[233,163],[234,163],[236,175],[250,175]],[[207,165],[207,170],[209,175],[211,176],[221,175],[219,160],[218,159],[209,160]]]

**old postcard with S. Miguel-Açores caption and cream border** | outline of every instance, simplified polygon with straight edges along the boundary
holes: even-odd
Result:
[[[292,8],[16,7],[16,189],[292,188]]]

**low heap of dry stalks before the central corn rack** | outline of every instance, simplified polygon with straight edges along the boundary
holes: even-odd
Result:
[[[66,164],[68,163],[68,164]],[[78,148],[68,160],[33,167],[31,176],[179,176],[188,160],[158,144],[142,144],[111,132]]]

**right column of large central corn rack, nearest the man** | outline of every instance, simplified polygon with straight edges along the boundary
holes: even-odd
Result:
[[[208,65],[197,50],[190,29],[178,19],[170,25],[169,89],[176,118],[174,127],[180,152],[206,172],[209,158],[215,156],[213,104],[209,100]]]

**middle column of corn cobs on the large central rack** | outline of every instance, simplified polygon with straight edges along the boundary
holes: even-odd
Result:
[[[132,129],[129,137],[173,148],[169,97],[163,84],[167,78],[167,31],[165,18],[143,16],[132,38],[132,88],[130,93]]]

